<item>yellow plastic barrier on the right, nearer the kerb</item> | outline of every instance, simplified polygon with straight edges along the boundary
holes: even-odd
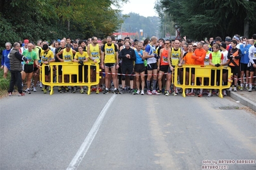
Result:
[[[189,68],[189,84],[185,84],[185,79],[186,79],[186,68]],[[191,84],[191,68],[195,68],[195,73],[194,73],[194,85]],[[178,84],[178,70],[183,69],[183,81]],[[214,86],[211,86],[211,73],[212,70],[214,70]],[[217,82],[217,70],[220,71],[219,74],[219,85],[216,83]],[[223,85],[222,80],[223,80],[223,70],[227,70],[228,75],[227,75],[227,85]],[[182,96],[186,97],[185,95],[185,89],[186,88],[193,88],[193,89],[219,89],[221,92],[222,89],[227,89],[230,88],[231,86],[231,79],[232,73],[231,73],[231,68],[228,66],[210,66],[210,65],[205,65],[205,66],[200,66],[200,65],[183,65],[183,66],[175,66],[175,86],[178,88],[182,88]],[[198,86],[196,85],[196,80],[197,78],[201,78],[201,85]],[[205,80],[209,82],[208,84],[205,84]],[[223,98],[222,93],[219,93],[219,97]]]

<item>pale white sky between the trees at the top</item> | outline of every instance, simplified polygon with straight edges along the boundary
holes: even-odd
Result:
[[[129,0],[128,3],[123,4],[120,10],[123,10],[123,14],[128,14],[130,12],[139,13],[139,15],[144,17],[158,16],[155,12],[156,0]]]

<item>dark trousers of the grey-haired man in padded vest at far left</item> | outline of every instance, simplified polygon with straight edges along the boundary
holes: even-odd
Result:
[[[22,80],[21,80],[21,72],[12,72],[11,71],[11,81],[10,81],[10,86],[8,89],[8,93],[13,91],[14,86],[17,86],[19,93],[22,93]]]

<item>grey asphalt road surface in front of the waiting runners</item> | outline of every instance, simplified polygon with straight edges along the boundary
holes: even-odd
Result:
[[[229,97],[0,99],[0,169],[256,169],[256,116]],[[237,164],[236,160],[254,160]]]

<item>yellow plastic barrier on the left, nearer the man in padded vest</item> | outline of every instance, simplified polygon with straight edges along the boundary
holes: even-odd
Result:
[[[76,62],[53,62],[49,63],[49,65],[43,64],[40,68],[40,81],[42,81],[42,84],[50,86],[51,92],[50,95],[53,95],[53,87],[54,86],[88,86],[88,95],[90,95],[90,86],[94,86],[99,84],[99,79],[101,79],[101,76],[99,76],[99,72],[101,72],[101,69],[99,69],[99,65],[91,64],[91,63],[84,63],[84,66],[82,68],[82,73],[84,73],[85,66],[88,66],[88,72],[87,72],[87,80],[85,80],[85,76],[82,76],[82,81],[79,82],[79,72],[78,72],[78,66],[80,64]],[[49,81],[46,82],[45,79],[45,72],[46,68],[45,66],[49,66]],[[53,77],[53,66],[56,66],[56,82],[54,82]],[[62,82],[59,82],[58,80],[58,67],[62,66]],[[92,82],[90,81],[90,67],[95,66],[96,67],[96,81]],[[64,82],[64,75],[69,75],[69,82]],[[76,82],[72,82],[72,76],[76,75],[77,79]]]

